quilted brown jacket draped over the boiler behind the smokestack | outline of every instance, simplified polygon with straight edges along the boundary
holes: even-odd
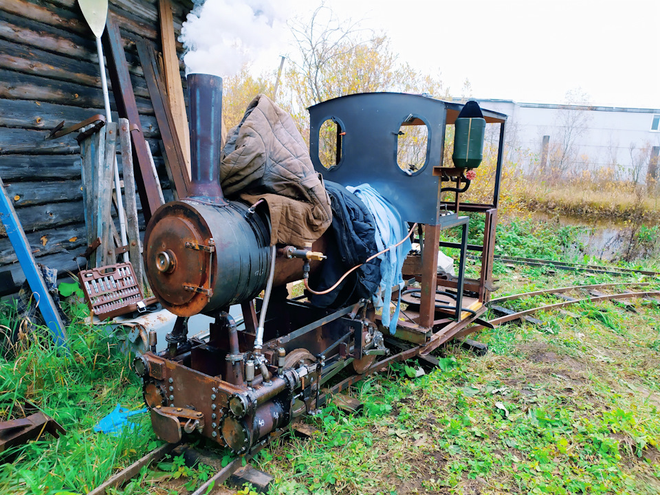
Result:
[[[318,239],[332,221],[322,177],[291,116],[260,94],[243,120],[228,133],[220,166],[228,197],[248,203],[265,199],[272,224],[271,244],[303,247]]]

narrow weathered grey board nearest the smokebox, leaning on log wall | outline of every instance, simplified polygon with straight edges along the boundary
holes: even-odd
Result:
[[[131,150],[131,133],[127,119],[119,120],[119,137],[122,143],[122,162],[124,162],[124,197],[126,198],[126,235],[129,238],[129,258],[133,264],[135,278],[142,283],[144,281],[144,261],[142,260],[140,229],[137,223],[133,151]]]

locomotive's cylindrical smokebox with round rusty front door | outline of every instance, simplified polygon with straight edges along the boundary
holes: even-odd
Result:
[[[270,264],[270,229],[260,214],[245,219],[247,210],[236,201],[214,207],[186,199],[155,212],[144,235],[144,259],[151,288],[166,309],[179,316],[210,313],[261,292]],[[186,243],[213,244],[214,251]],[[164,254],[170,260],[166,270],[160,269]]]

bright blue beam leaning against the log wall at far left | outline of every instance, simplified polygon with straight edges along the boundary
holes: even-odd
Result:
[[[64,324],[57,312],[55,303],[48,292],[46,284],[43,281],[41,271],[39,270],[39,267],[36,266],[36,261],[34,261],[34,256],[32,256],[30,243],[28,242],[28,238],[25,237],[23,227],[21,227],[19,218],[16,215],[16,210],[14,210],[14,205],[7,195],[5,184],[3,184],[1,178],[0,192],[2,193],[0,194],[0,220],[5,226],[5,232],[7,232],[9,240],[14,246],[14,251],[16,251],[16,256],[19,259],[23,273],[25,273],[25,278],[28,280],[30,289],[32,289],[32,292],[39,297],[38,307],[41,310],[41,314],[47,327],[52,333],[55,344],[66,346]]]

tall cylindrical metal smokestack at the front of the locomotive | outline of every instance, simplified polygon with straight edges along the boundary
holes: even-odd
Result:
[[[188,197],[227,204],[220,187],[222,78],[188,74],[190,93],[190,191]]]

